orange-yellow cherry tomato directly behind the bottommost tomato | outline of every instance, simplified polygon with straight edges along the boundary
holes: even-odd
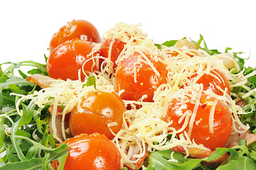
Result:
[[[99,132],[111,140],[114,136],[109,130],[108,123],[116,123],[111,126],[111,130],[117,133],[121,129],[126,106],[117,94],[96,90],[84,98],[82,109],[83,111],[79,112],[74,108],[70,113],[69,129],[72,136]]]

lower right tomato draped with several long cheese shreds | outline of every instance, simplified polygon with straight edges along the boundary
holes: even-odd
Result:
[[[231,134],[233,120],[227,106],[217,98],[206,96],[202,93],[200,97],[200,104],[196,110],[196,115],[194,117],[194,122],[191,120],[193,117],[193,111],[196,107],[194,101],[191,101],[191,97],[188,95],[187,107],[184,107],[184,101],[181,98],[174,98],[169,104],[167,110],[167,115],[165,116],[165,121],[172,121],[172,126],[176,130],[182,128],[184,125],[185,118],[179,123],[179,119],[186,112],[190,111],[192,114],[189,117],[189,123],[193,123],[192,128],[189,128],[189,124],[184,131],[188,134],[190,132],[190,139],[194,140],[197,144],[203,144],[211,150],[215,150],[216,147],[224,147],[228,142]],[[214,108],[213,103],[216,102]],[[214,109],[213,115],[213,131],[210,130],[210,113],[211,109]]]

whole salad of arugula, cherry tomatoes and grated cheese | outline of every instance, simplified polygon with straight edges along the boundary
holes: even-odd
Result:
[[[256,169],[243,52],[139,27],[70,21],[45,63],[0,64],[0,170]]]

